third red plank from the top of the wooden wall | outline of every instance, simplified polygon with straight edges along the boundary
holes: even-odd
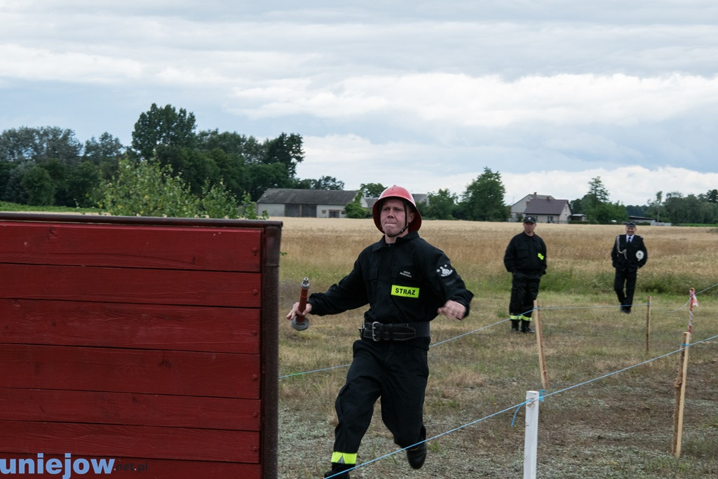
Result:
[[[260,310],[0,299],[0,341],[258,354]]]

